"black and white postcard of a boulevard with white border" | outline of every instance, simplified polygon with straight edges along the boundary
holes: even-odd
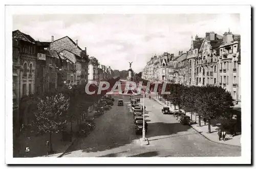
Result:
[[[6,6],[6,163],[250,163],[250,8]]]

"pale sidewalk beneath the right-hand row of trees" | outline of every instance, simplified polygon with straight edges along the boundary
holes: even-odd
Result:
[[[170,110],[174,111],[174,105],[172,105],[172,107],[167,106],[167,104],[164,104],[162,101],[159,101],[159,99],[157,99],[156,96],[153,96],[152,99],[154,99],[156,102],[158,102],[162,106],[169,107]],[[178,109],[178,106],[176,106],[176,109]],[[184,112],[184,110],[182,110],[182,112]],[[190,112],[186,112],[186,115],[191,118]],[[192,114],[192,121],[195,122],[195,120],[198,123],[199,118],[198,118],[198,116],[196,117],[195,114]],[[218,132],[218,129],[219,129],[218,126],[220,125],[220,123],[218,123],[217,121],[212,120],[211,124],[214,124],[214,126],[211,125],[211,133],[207,133],[208,132],[208,124],[206,123],[206,125],[204,125],[204,122],[203,122],[202,119],[201,119],[201,127],[199,127],[198,124],[191,124],[190,126],[192,128],[194,128],[195,130],[197,130],[204,137],[211,140],[212,142],[241,147],[241,134],[236,135],[234,137],[227,134],[225,141],[219,140],[217,132]]]

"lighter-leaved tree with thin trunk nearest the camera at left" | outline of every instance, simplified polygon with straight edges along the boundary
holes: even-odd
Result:
[[[69,99],[63,94],[46,96],[37,100],[37,111],[34,112],[36,118],[34,125],[36,125],[38,132],[49,133],[51,153],[53,152],[51,135],[53,132],[65,129],[68,108]]]

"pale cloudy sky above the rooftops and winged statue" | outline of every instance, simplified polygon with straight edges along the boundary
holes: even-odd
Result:
[[[191,36],[240,34],[239,14],[47,14],[13,15],[13,31],[35,40],[69,36],[90,57],[112,69],[140,72],[152,55],[189,50]]]

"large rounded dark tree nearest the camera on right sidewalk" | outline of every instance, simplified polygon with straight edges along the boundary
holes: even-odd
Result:
[[[201,87],[199,114],[208,119],[208,132],[210,133],[211,119],[226,116],[233,106],[231,94],[222,87],[206,86]]]

